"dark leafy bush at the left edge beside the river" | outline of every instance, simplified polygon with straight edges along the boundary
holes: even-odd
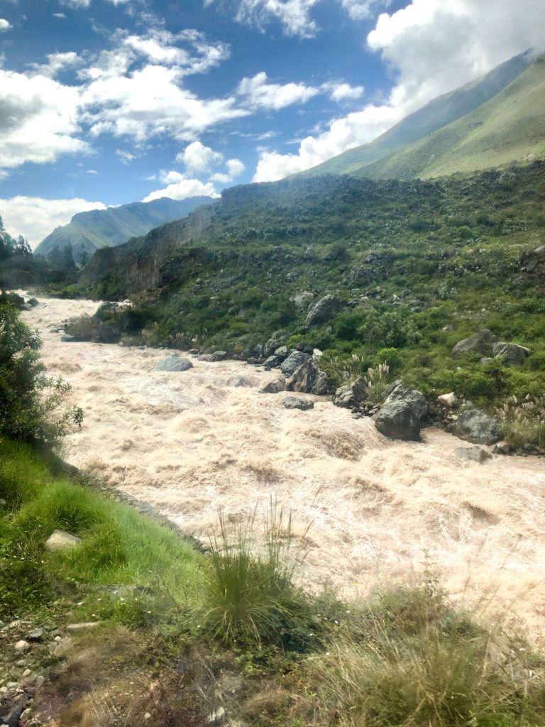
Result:
[[[70,423],[81,425],[84,414],[65,406],[70,385],[47,377],[40,346],[17,309],[0,300],[0,436],[55,445]]]

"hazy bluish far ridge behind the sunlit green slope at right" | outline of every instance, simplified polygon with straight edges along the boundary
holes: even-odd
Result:
[[[532,59],[528,54],[514,56],[483,78],[430,101],[373,142],[349,149],[339,156],[324,161],[323,164],[301,172],[300,176],[364,173],[363,168],[369,164],[427,137],[493,99],[524,73],[530,63]]]

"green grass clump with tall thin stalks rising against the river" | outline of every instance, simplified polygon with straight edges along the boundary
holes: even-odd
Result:
[[[282,642],[306,608],[295,584],[305,555],[294,543],[291,515],[273,500],[262,528],[257,508],[233,524],[220,510],[204,596],[203,622],[211,638],[230,645]]]

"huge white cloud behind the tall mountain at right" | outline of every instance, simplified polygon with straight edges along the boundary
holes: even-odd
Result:
[[[392,68],[387,101],[335,119],[296,154],[262,151],[254,181],[278,180],[365,144],[432,98],[483,75],[527,48],[545,48],[543,0],[413,0],[383,13],[369,47]]]

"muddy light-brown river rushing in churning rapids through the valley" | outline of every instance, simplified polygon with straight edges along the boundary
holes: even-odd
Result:
[[[68,462],[203,542],[220,507],[227,521],[256,505],[262,518],[272,495],[308,550],[310,587],[350,598],[410,578],[427,554],[455,598],[484,596],[491,613],[508,608],[544,640],[543,458],[462,461],[455,451],[470,445],[435,429],[421,443],[389,441],[326,397],[286,410],[285,393],[259,393],[271,373],[238,361],[193,358],[193,369],[167,373],[154,370],[166,350],[61,342],[62,321],[97,302],[42,302],[23,319],[85,411],[65,438]]]

